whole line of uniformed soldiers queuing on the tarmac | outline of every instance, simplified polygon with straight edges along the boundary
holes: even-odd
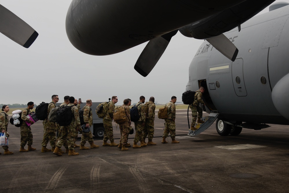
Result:
[[[81,137],[81,143],[80,146],[75,144],[75,141],[78,136],[78,131],[81,131],[81,125],[80,125],[80,119],[79,119],[79,110],[80,110],[80,103],[81,101],[78,101],[74,97],[65,96],[64,102],[60,105],[67,105],[71,106],[71,112],[72,112],[72,121],[68,126],[59,126],[55,122],[51,122],[48,120],[48,115],[51,109],[56,107],[56,103],[59,101],[58,95],[52,95],[51,97],[52,101],[48,104],[47,108],[47,118],[43,120],[43,141],[42,141],[42,149],[41,152],[53,152],[57,156],[61,156],[63,153],[68,153],[69,156],[73,155],[79,155],[79,153],[75,152],[75,147],[80,147],[80,150],[86,150],[89,149],[89,147],[85,147],[86,141],[89,142],[90,148],[98,148],[98,145],[95,145],[92,138],[91,131],[85,133],[82,132]],[[152,141],[153,135],[154,135],[154,117],[155,117],[155,103],[154,103],[154,97],[150,97],[149,102],[144,104],[145,97],[141,96],[139,98],[139,102],[135,105],[137,106],[138,113],[139,113],[139,120],[134,122],[135,123],[135,138],[132,148],[141,148],[145,147],[147,145],[156,145]],[[103,118],[103,124],[104,124],[104,138],[103,138],[103,144],[102,146],[117,146],[118,148],[124,150],[128,150],[128,147],[131,147],[129,143],[127,143],[128,139],[128,133],[132,129],[131,127],[131,121],[130,121],[130,113],[129,113],[129,106],[131,105],[130,99],[124,100],[124,108],[126,110],[127,115],[127,121],[123,124],[120,124],[120,130],[121,130],[121,139],[120,143],[116,144],[114,142],[113,138],[113,127],[112,127],[112,120],[113,120],[113,112],[115,109],[115,103],[117,103],[118,99],[117,96],[113,96],[111,102],[108,103],[108,111],[106,115]],[[171,101],[166,104],[168,107],[168,118],[165,119],[165,129],[163,132],[163,140],[161,143],[165,144],[167,141],[165,140],[168,134],[170,133],[172,138],[172,143],[179,143],[179,141],[175,140],[175,117],[176,117],[176,97],[172,96]],[[89,128],[93,125],[93,117],[92,117],[92,101],[86,100],[86,105],[82,108],[84,111],[83,117],[85,122],[85,128]],[[145,107],[146,106],[146,107]],[[25,108],[22,111],[21,119],[23,120],[23,123],[20,126],[20,133],[21,133],[21,143],[20,143],[20,150],[19,152],[27,152],[27,151],[34,151],[36,148],[32,147],[33,144],[33,135],[31,132],[31,127],[27,126],[26,122],[29,122],[33,124],[34,122],[29,120],[26,115],[30,113],[30,110],[34,108],[34,102],[28,102],[27,108]],[[146,110],[147,109],[147,112]],[[2,107],[2,113],[0,113],[0,129],[2,133],[5,133],[7,137],[9,137],[9,134],[7,132],[7,126],[8,126],[8,111],[9,106],[4,105]],[[146,137],[148,137],[148,143],[145,142]],[[107,141],[110,140],[111,143],[107,143]],[[140,141],[140,145],[137,145],[137,143]],[[50,142],[51,149],[47,148],[47,144]],[[28,148],[25,149],[25,145],[28,145]],[[62,151],[61,147],[64,146],[66,148],[66,151]],[[4,155],[10,155],[13,154],[13,152],[10,152],[8,150],[8,146],[2,146],[5,150]],[[1,154],[1,153],[0,153]]]

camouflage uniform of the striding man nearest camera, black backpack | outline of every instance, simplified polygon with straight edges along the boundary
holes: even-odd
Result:
[[[56,146],[61,148],[61,146],[67,141],[68,139],[68,148],[69,150],[74,149],[74,139],[76,136],[76,128],[80,128],[80,120],[79,120],[79,113],[78,108],[74,105],[69,103],[67,106],[71,107],[71,112],[73,114],[71,123],[67,126],[60,126],[60,133],[58,136],[58,142]]]

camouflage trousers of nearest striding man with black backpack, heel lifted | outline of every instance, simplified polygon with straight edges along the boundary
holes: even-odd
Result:
[[[75,127],[61,126],[56,146],[61,148],[61,146],[64,145],[65,142],[67,142],[68,149],[73,150],[75,136],[76,136]]]

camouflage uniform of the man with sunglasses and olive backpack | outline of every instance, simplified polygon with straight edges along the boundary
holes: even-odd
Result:
[[[111,101],[107,104],[107,112],[103,118],[103,126],[104,126],[104,134],[103,141],[107,141],[108,139],[113,142],[113,127],[112,127],[112,118],[113,112],[115,109],[114,103]]]

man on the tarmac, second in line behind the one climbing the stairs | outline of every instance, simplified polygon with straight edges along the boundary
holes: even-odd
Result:
[[[146,125],[143,128],[143,142],[145,143],[145,139],[148,136],[148,145],[157,145],[152,142],[152,138],[154,137],[154,115],[156,105],[154,104],[154,97],[150,97],[149,102],[145,104],[146,109]]]

